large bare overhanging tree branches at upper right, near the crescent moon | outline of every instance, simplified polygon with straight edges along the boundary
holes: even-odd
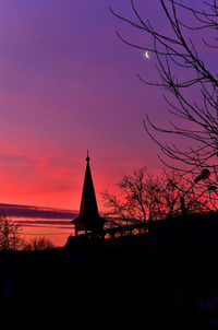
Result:
[[[169,128],[162,128],[157,127],[147,115],[145,129],[160,146],[162,154],[159,157],[167,166],[180,169],[180,174],[195,176],[208,168],[211,174],[209,181],[201,184],[204,186],[203,190],[206,186],[214,186],[210,192],[216,192],[218,79],[216,68],[210,64],[209,55],[216,54],[218,48],[218,3],[216,0],[159,0],[166,22],[164,28],[157,28],[155,23],[146,17],[146,12],[137,10],[137,1],[130,2],[134,19],[125,17],[110,8],[112,14],[136,28],[138,33],[152,37],[152,42],[150,38],[145,38],[147,44],[143,45],[135,39],[132,42],[123,38],[119,32],[117,35],[126,45],[154,55],[159,80],[147,81],[140,73],[138,78],[146,85],[167,91],[168,94],[165,94],[164,98],[174,118]],[[182,141],[185,140],[185,143],[182,146],[174,144],[174,141],[165,143],[156,133],[177,135]],[[211,199],[215,204],[216,196]]]

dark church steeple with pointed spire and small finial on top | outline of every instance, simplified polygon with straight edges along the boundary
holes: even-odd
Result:
[[[83,192],[81,199],[81,208],[78,217],[74,219],[75,235],[101,235],[104,231],[105,219],[98,213],[96,195],[90,173],[89,156],[87,152],[86,170],[83,184]]]

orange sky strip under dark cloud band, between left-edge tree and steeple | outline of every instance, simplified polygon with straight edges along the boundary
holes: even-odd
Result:
[[[65,245],[68,237],[74,234],[72,219],[11,219],[20,226],[19,233],[26,240],[46,237],[56,247]]]

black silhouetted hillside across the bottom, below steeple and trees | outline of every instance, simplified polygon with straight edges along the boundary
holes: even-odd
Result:
[[[187,322],[215,329],[218,214],[187,221],[185,245],[178,217],[150,223],[140,235],[81,235],[63,248],[1,252],[1,300],[8,308],[22,304],[33,317],[49,306],[66,318],[97,310],[125,321],[143,317],[146,329],[183,329]]]

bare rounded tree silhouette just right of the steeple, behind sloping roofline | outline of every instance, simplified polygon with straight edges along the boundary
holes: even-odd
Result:
[[[175,216],[181,213],[181,196],[187,212],[208,211],[207,202],[195,193],[192,181],[187,186],[175,172],[150,175],[146,167],[141,167],[125,175],[118,188],[118,196],[108,191],[102,193],[105,207],[109,209],[105,215],[110,217],[112,225]]]

